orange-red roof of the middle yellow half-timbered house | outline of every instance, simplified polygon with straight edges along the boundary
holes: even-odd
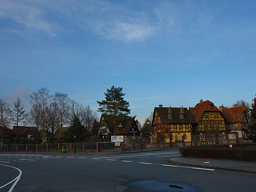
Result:
[[[195,105],[195,107],[189,108],[193,114],[195,123],[198,123],[204,112],[220,112],[220,110],[210,100],[205,100]]]

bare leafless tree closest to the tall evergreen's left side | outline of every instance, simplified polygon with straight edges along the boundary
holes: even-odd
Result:
[[[92,107],[87,105],[82,108],[81,123],[88,132],[92,131],[94,120],[97,120],[97,114],[93,111]]]

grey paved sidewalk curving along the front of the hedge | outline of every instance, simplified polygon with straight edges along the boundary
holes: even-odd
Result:
[[[192,157],[173,157],[170,163],[178,165],[198,166],[203,168],[239,171],[256,174],[256,162],[222,159],[201,159]]]

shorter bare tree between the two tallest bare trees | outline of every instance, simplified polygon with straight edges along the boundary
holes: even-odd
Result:
[[[49,107],[46,108],[46,131],[51,135],[51,142],[54,142],[54,135],[61,125],[60,109],[57,103],[50,103]],[[48,140],[48,138],[47,138]]]

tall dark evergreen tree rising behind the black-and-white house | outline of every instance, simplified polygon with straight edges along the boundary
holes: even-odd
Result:
[[[101,112],[106,115],[113,116],[127,116],[130,114],[130,109],[128,108],[129,102],[124,100],[124,93],[122,93],[122,87],[111,87],[111,89],[107,89],[107,93],[105,94],[105,100],[99,103],[100,107],[98,112]]]

